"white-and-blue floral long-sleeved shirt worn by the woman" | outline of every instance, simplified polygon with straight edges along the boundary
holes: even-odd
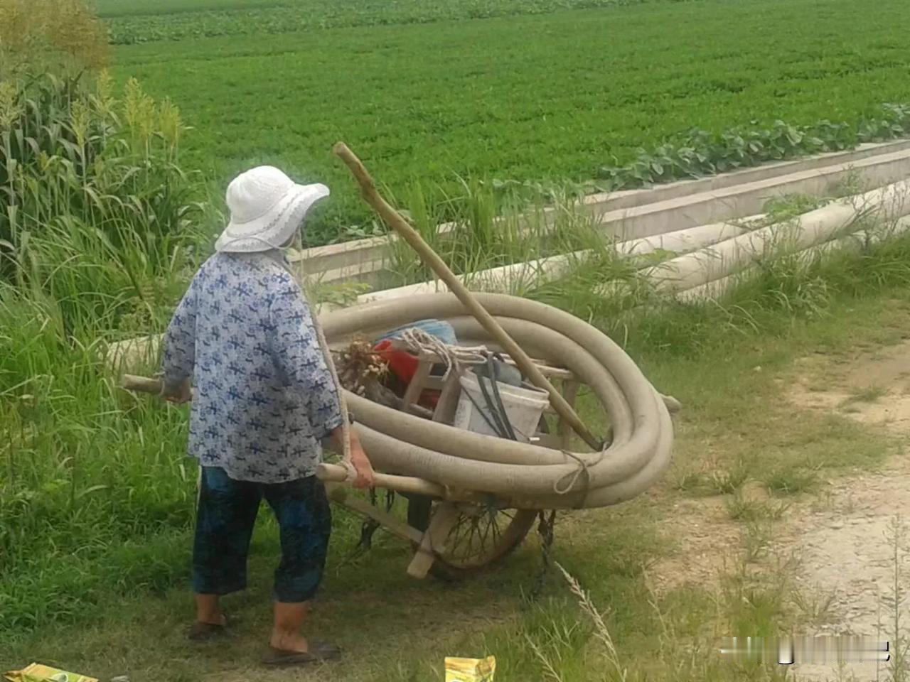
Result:
[[[189,454],[236,480],[312,476],[341,426],[309,307],[279,252],[199,269],[164,339],[167,386],[193,378]]]

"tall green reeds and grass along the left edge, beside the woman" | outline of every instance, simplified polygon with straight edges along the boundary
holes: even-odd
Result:
[[[106,341],[160,328],[203,209],[177,109],[136,82],[0,84],[0,630],[182,574],[185,419],[122,395]]]

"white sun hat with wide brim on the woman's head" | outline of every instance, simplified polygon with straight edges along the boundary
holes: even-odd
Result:
[[[252,253],[284,246],[310,208],[329,196],[325,185],[298,185],[271,165],[260,165],[227,186],[230,222],[216,251]]]

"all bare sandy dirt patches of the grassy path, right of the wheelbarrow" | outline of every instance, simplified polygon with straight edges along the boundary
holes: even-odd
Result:
[[[788,390],[803,410],[819,410],[855,419],[891,436],[910,437],[910,341],[861,350],[855,356],[812,356],[799,366],[799,379]],[[747,490],[746,495],[754,495]],[[709,585],[741,551],[735,542],[742,525],[730,520],[722,497],[681,500],[677,514],[664,522],[684,538],[679,556],[655,570],[658,587]],[[798,559],[796,582],[801,607],[813,621],[804,633],[856,635],[894,640],[894,613],[886,599],[895,591],[895,517],[910,513],[910,458],[898,447],[879,472],[829,481],[812,499],[792,506],[776,525],[773,552]],[[672,527],[671,527],[672,526]],[[903,575],[899,587],[910,589],[907,538],[898,552]],[[910,603],[902,607],[902,629],[910,627]],[[813,631],[814,630],[814,631]],[[876,665],[878,667],[876,667]],[[796,665],[796,679],[885,680],[884,664]]]

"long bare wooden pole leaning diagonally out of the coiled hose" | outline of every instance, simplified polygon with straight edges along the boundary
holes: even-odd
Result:
[[[440,279],[449,286],[450,291],[458,297],[461,304],[468,309],[471,315],[477,318],[489,334],[502,346],[502,349],[508,353],[515,364],[521,369],[534,386],[545,390],[550,395],[550,403],[556,413],[561,416],[566,424],[577,433],[581,438],[595,450],[602,449],[603,444],[591,434],[588,427],[584,425],[581,418],[575,413],[571,405],[566,401],[562,394],[547,380],[546,376],[541,374],[541,370],[531,361],[531,358],[521,349],[515,341],[512,340],[506,331],[500,326],[496,319],[487,312],[486,308],[480,305],[480,302],[471,295],[461,280],[449,269],[449,266],[440,258],[439,254],[430,248],[420,234],[408,224],[398,211],[389,206],[385,199],[379,195],[376,189],[376,183],[369,175],[367,168],[361,163],[360,159],[343,142],[339,142],[332,150],[335,155],[344,161],[348,166],[351,174],[357,180],[360,186],[360,196],[369,206],[382,217],[389,226],[394,229],[401,238],[403,238],[413,248],[420,258],[426,263]]]

